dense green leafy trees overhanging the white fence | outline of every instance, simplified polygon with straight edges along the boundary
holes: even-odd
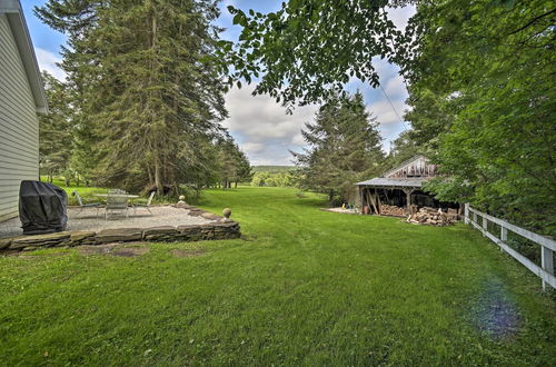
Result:
[[[415,137],[437,149],[429,188],[555,234],[552,1],[419,2],[404,70]]]

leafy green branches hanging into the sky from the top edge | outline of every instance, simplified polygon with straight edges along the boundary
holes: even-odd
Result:
[[[267,14],[228,7],[242,28],[239,42],[222,41],[230,82],[259,78],[255,93],[286,106],[314,103],[342,90],[351,77],[378,87],[373,58],[394,59],[400,36],[387,6],[410,1],[290,0]]]

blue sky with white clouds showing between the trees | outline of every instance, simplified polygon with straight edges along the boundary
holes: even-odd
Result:
[[[42,24],[32,12],[34,6],[41,6],[44,2],[46,0],[21,1],[39,67],[54,77],[63,79],[63,72],[56,63],[61,60],[59,52],[60,47],[66,43],[66,37]],[[221,3],[222,14],[218,20],[218,24],[226,28],[221,37],[236,40],[240,30],[231,24],[231,16],[226,9],[227,6],[232,4],[246,11],[254,9],[268,12],[277,10],[280,3],[281,1],[271,0],[224,0]],[[415,9],[408,7],[390,10],[389,16],[396,26],[404,28],[414,12]],[[390,140],[394,140],[407,126],[398,118],[398,115],[403,117],[406,109],[407,90],[396,66],[380,59],[376,59],[374,62],[394,108],[380,89],[373,89],[359,80],[350,81],[347,89],[350,91],[359,90],[364,95],[367,108],[380,122],[380,133],[384,138],[383,148],[388,151]],[[229,91],[226,96],[226,107],[230,117],[222,123],[248,155],[251,165],[290,165],[291,156],[288,150],[302,150],[305,143],[300,131],[305,122],[312,120],[317,107],[298,107],[294,110],[294,115],[286,115],[285,108],[270,97],[252,97],[252,89],[251,85],[241,89],[234,88]]]

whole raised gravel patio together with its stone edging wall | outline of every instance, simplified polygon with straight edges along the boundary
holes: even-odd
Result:
[[[23,236],[19,218],[0,222],[0,250],[21,251],[44,247],[98,246],[129,241],[199,241],[241,236],[239,224],[191,206],[155,206],[129,218],[105,219],[102,210],[68,209],[64,231]]]

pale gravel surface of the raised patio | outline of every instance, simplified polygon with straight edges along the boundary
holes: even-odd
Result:
[[[66,230],[95,230],[109,228],[148,228],[159,226],[181,226],[181,225],[202,225],[212,220],[202,217],[189,216],[189,210],[173,208],[170,206],[150,207],[150,215],[147,209],[139,208],[137,214],[133,209],[129,210],[129,218],[118,217],[105,220],[105,210],[99,209],[99,217],[96,217],[97,209],[85,209],[79,215],[79,209],[68,209],[68,227]],[[22,235],[21,222],[19,218],[13,218],[0,222],[0,238]]]

